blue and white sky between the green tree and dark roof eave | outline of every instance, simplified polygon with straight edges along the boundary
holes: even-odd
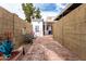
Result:
[[[57,16],[66,7],[66,3],[35,3],[36,8],[41,11],[42,17]]]

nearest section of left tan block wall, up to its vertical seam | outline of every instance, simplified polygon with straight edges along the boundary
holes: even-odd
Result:
[[[13,31],[13,14],[0,7],[0,34]]]

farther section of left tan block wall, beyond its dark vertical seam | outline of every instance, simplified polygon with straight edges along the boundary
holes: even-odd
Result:
[[[17,15],[14,15],[14,37],[16,48],[22,46],[23,42],[23,33],[22,29],[25,28],[26,34],[29,34],[32,28],[30,24],[20,18]]]

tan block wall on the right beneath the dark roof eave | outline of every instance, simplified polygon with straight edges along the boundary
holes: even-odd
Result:
[[[53,24],[53,38],[86,60],[86,4],[82,4]]]

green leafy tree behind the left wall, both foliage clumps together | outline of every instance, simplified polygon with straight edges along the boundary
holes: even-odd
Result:
[[[32,17],[36,17],[36,18],[40,18],[41,15],[40,15],[40,10],[39,9],[35,9],[35,7],[33,5],[33,3],[23,3],[22,4],[22,8],[23,8],[23,11],[24,11],[24,14],[25,14],[25,20],[27,22],[32,22]]]

